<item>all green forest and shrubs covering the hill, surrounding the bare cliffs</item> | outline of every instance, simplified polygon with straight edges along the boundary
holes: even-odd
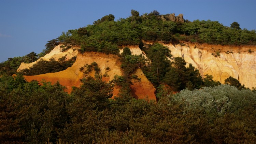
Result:
[[[168,15],[131,10],[130,17],[116,21],[106,15],[93,25],[63,32],[40,54],[0,63],[0,143],[254,143],[256,89],[233,77],[225,85],[212,75],[203,78],[192,64],[186,67],[184,59],[173,57],[157,41],[256,45],[256,31],[242,30],[236,22],[227,27],[211,20],[171,21]],[[68,94],[58,82],[27,82],[22,75],[65,70],[75,57],[41,59],[16,72],[21,62],[38,60],[59,44],[63,51],[80,46],[80,53],[118,55],[123,76],[102,82],[94,62],[80,71],[95,71],[95,77],[83,78],[83,84]],[[131,55],[128,47],[119,54],[127,45],[139,45],[148,59]],[[138,68],[156,87],[157,101],[132,97],[129,85],[138,78],[133,74]],[[114,85],[120,91],[110,99]]]

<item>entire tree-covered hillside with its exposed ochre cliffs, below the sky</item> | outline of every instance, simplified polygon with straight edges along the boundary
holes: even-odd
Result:
[[[0,143],[255,143],[255,30],[114,19],[0,64]]]

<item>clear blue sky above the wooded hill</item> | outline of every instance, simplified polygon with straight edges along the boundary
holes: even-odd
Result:
[[[256,0],[0,0],[0,62],[40,53],[47,41],[61,33],[92,25],[109,14],[183,14],[184,19],[219,21],[256,30]]]

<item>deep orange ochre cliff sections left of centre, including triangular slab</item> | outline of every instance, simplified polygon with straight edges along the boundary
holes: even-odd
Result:
[[[142,52],[140,52],[142,53]],[[91,64],[92,62],[96,62],[98,67],[100,68],[100,74],[105,75],[102,77],[102,80],[105,82],[111,81],[114,78],[114,75],[122,76],[121,71],[121,62],[119,61],[119,57],[116,55],[105,55],[102,53],[96,52],[87,52],[84,54],[77,54],[76,61],[66,70],[55,72],[55,73],[46,73],[34,76],[24,76],[27,81],[37,80],[39,82],[45,80],[46,82],[59,83],[63,86],[67,87],[67,92],[70,93],[72,90],[72,86],[80,87],[82,84],[80,79],[86,76],[83,71],[79,69],[84,67],[86,64]],[[108,68],[108,69],[107,69]],[[84,68],[86,70],[86,68]],[[89,73],[90,76],[94,77],[94,71]],[[148,100],[156,100],[155,96],[155,88],[154,86],[147,80],[145,75],[142,73],[141,69],[136,71],[136,75],[141,78],[140,81],[133,81],[134,84],[131,86],[131,91],[133,97],[137,99],[148,99]],[[113,90],[113,97],[118,96],[120,87],[115,86]]]

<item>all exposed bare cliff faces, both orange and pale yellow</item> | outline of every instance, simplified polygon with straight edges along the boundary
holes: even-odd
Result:
[[[146,44],[152,43],[146,42]],[[232,76],[238,79],[241,84],[244,84],[245,87],[256,87],[256,46],[223,46],[198,43],[162,44],[171,50],[171,54],[174,57],[184,58],[187,65],[191,63],[200,71],[202,76],[206,74],[213,75],[213,79],[221,83],[224,83],[226,78]],[[142,54],[145,56],[145,53],[141,51],[139,46],[128,47],[133,55]],[[59,81],[61,85],[67,87],[68,92],[71,92],[72,86],[79,87],[81,85],[80,79],[85,76],[79,69],[94,61],[101,69],[100,74],[103,75],[103,81],[111,81],[114,75],[122,75],[120,68],[121,62],[118,56],[96,52],[77,54],[77,48],[71,48],[66,52],[61,52],[60,47],[57,46],[51,53],[43,57],[43,59],[49,59],[51,57],[59,58],[64,55],[67,55],[67,58],[77,56],[72,67],[56,73],[25,76],[26,80],[38,80],[40,82],[44,79],[52,83]],[[120,49],[120,53],[122,52],[123,49]],[[36,63],[36,61],[33,63]],[[33,63],[22,63],[18,70],[28,68]],[[107,67],[109,67],[108,70],[106,69]],[[143,72],[137,69],[134,74],[141,80],[132,80],[130,88],[133,96],[138,99],[147,98],[155,100],[156,89],[147,80]],[[90,73],[90,75],[94,76],[94,73]],[[119,87],[115,86],[114,96],[118,95],[118,90]]]

